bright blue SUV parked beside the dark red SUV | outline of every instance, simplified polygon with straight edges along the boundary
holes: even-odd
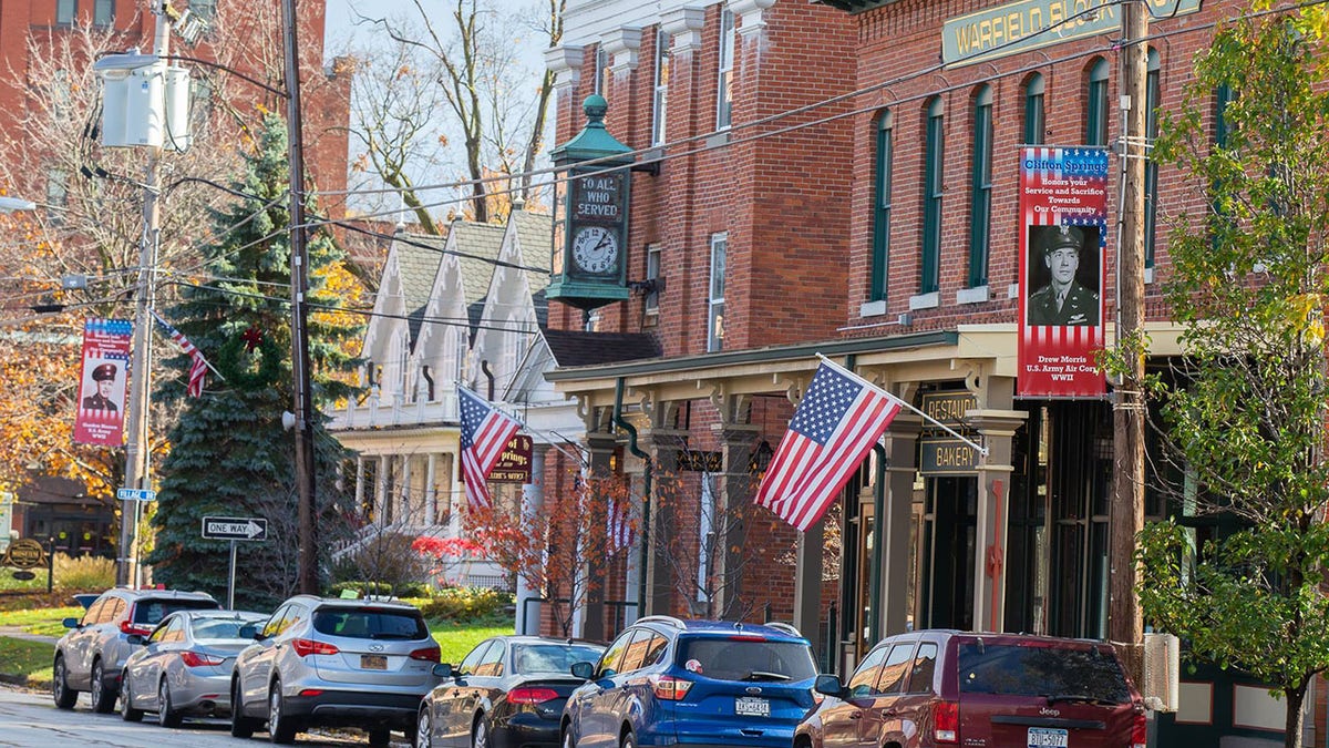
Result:
[[[788,748],[817,668],[788,624],[647,616],[573,675],[562,748]]]

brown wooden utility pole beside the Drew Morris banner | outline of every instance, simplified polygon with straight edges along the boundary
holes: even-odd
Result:
[[[1116,342],[1134,343],[1144,329],[1144,160],[1146,81],[1148,76],[1148,8],[1123,3],[1122,9],[1122,204],[1116,252]],[[1130,367],[1114,393],[1114,483],[1111,510],[1111,582],[1107,635],[1136,683],[1143,683],[1144,619],[1140,614],[1135,538],[1144,528],[1144,351],[1131,351]]]

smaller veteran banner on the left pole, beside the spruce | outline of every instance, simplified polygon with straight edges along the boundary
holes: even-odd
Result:
[[[125,383],[134,325],[128,319],[84,322],[82,374],[74,441],[118,447],[125,443]]]

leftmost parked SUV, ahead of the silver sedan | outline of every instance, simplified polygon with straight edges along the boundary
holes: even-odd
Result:
[[[56,707],[72,709],[78,692],[92,693],[92,708],[116,708],[120,676],[134,650],[133,635],[146,636],[163,618],[183,610],[221,610],[206,592],[114,588],[102,592],[82,619],[66,618],[69,631],[56,642],[51,695]]]

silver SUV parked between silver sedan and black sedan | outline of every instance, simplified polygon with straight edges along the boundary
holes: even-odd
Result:
[[[401,729],[415,743],[439,661],[415,606],[298,595],[253,636],[231,675],[231,735],[250,737],[266,721],[272,743],[310,725],[359,727],[371,745]]]

